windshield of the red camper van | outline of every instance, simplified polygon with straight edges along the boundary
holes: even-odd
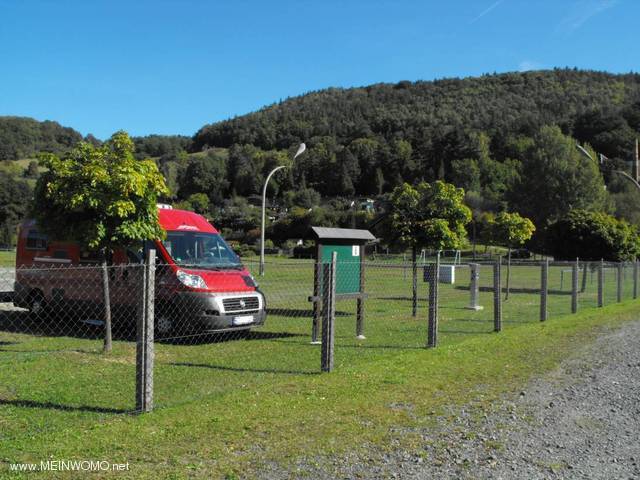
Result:
[[[218,234],[197,232],[167,232],[164,248],[181,266],[200,268],[240,267],[240,258]]]

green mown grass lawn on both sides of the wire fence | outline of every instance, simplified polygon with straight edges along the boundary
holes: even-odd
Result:
[[[412,446],[417,438],[398,439],[393,427],[428,425],[448,404],[490,402],[638,318],[639,303],[613,304],[609,271],[607,306],[586,308],[596,298],[588,273],[580,311],[570,315],[570,275],[561,289],[561,270],[550,269],[549,320],[540,323],[540,270],[513,267],[496,334],[491,267],[482,267],[478,312],[464,309],[468,270],[458,269],[455,285],[441,285],[440,344],[427,350],[426,284],[412,318],[410,270],[369,265],[367,338],[355,338],[355,301],[338,302],[336,370],[320,374],[319,346],[309,344],[311,264],[271,262],[259,279],[272,311],[266,326],[246,339],[158,343],[158,408],[143,416],[128,413],[134,342],[118,340],[105,356],[99,339],[12,332],[3,325],[14,317],[3,323],[0,314],[0,477],[9,462],[53,458],[129,462],[127,478],[244,478],[269,462],[294,465],[363,445],[384,450],[396,440]],[[627,299],[630,279],[626,272]]]

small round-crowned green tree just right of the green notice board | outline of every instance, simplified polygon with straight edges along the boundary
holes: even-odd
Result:
[[[457,249],[466,239],[465,225],[471,210],[464,204],[464,190],[440,180],[396,187],[390,198],[391,229],[399,241],[411,247],[413,265],[413,316],[418,294],[417,250]]]

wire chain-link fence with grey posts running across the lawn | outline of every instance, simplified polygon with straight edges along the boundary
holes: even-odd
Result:
[[[458,262],[273,259],[264,276],[253,262],[177,269],[151,257],[2,268],[0,403],[111,413],[233,402],[274,376],[357,371],[637,297],[635,262]]]

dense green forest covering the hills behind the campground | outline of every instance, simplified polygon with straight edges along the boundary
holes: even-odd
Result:
[[[167,178],[166,201],[251,243],[264,178],[290,165],[301,142],[307,152],[270,182],[276,242],[314,223],[371,224],[394,187],[435,179],[463,187],[474,215],[519,211],[540,232],[571,208],[640,224],[640,195],[614,173],[629,170],[639,134],[640,75],[556,69],[330,88],[206,125],[193,138],[134,141]],[[60,152],[81,139],[55,122],[0,117],[0,159]],[[599,154],[608,160],[598,164]],[[377,201],[376,211],[359,208],[364,198]]]

